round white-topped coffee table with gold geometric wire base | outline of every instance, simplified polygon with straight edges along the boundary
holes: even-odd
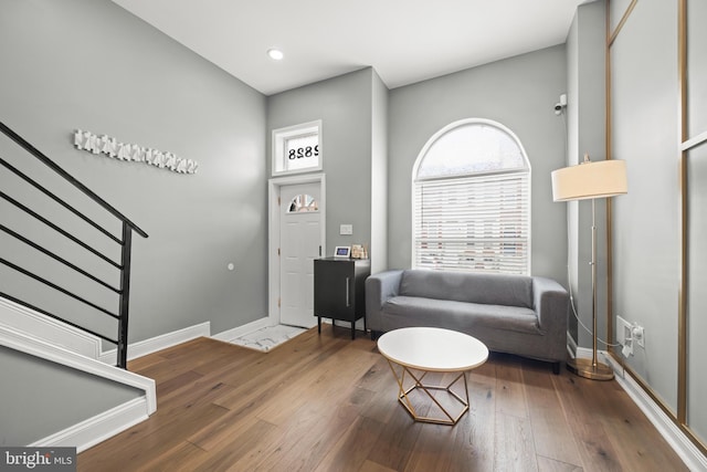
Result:
[[[468,411],[468,386],[466,373],[481,366],[488,358],[488,348],[481,340],[451,329],[433,327],[411,327],[394,329],[378,339],[378,350],[388,359],[390,369],[398,381],[398,401],[415,421],[454,426]],[[395,370],[399,366],[399,370]],[[415,374],[415,371],[419,371]],[[446,386],[425,385],[422,382],[428,373],[460,373]],[[420,374],[421,373],[421,374]],[[413,380],[405,387],[405,377]],[[451,388],[460,379],[464,379],[462,398]],[[409,395],[420,389],[440,408],[445,418],[423,417],[418,415]],[[462,403],[462,411],[452,416],[430,390],[445,390],[452,398]]]

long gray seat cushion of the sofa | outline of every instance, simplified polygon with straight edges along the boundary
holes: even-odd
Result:
[[[530,308],[488,305],[420,296],[394,296],[383,305],[383,317],[404,317],[409,326],[445,327],[469,333],[475,326],[542,334]]]

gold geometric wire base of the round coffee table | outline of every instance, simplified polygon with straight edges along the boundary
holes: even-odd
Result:
[[[409,369],[408,367],[400,366],[401,367],[401,371],[400,371],[400,375],[399,375],[395,371],[395,368],[393,366],[394,363],[392,363],[390,359],[387,359],[387,360],[388,360],[388,365],[390,366],[390,370],[392,370],[393,376],[395,377],[395,381],[398,382],[398,401],[400,402],[400,405],[403,406],[403,408],[410,413],[412,419],[414,419],[415,421],[435,423],[435,424],[454,426],[464,416],[464,413],[466,413],[468,411],[468,385],[467,385],[467,381],[466,381],[466,371],[461,373],[458,376],[456,376],[454,378],[454,380],[452,380],[446,386],[424,385],[422,382],[422,380],[428,375],[428,371],[421,370],[422,375],[415,376],[415,374],[411,369]],[[404,387],[405,375],[409,375],[414,380],[414,384],[412,385],[412,387],[410,387],[408,389],[405,389],[405,387]],[[461,378],[464,379],[464,394],[466,396],[465,399],[460,397],[456,392],[454,392],[452,390],[452,386],[454,384],[456,384]],[[430,397],[430,399],[442,410],[442,412],[444,413],[444,416],[446,418],[423,417],[423,416],[418,415],[418,412],[415,411],[414,406],[410,401],[410,398],[408,398],[408,395],[411,391],[416,390],[416,389],[420,389],[420,390],[424,391],[428,395],[428,397]],[[450,394],[460,403],[462,403],[462,406],[463,406],[462,411],[456,417],[453,417],[446,410],[446,408],[444,408],[440,403],[440,401],[436,398],[434,398],[434,396],[430,392],[430,390],[446,390],[447,394]]]

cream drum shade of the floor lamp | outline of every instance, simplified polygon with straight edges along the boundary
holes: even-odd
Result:
[[[552,172],[552,200],[585,200],[627,193],[626,162],[598,160]]]

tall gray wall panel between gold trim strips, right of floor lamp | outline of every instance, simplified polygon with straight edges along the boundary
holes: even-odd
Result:
[[[614,199],[614,313],[645,327],[645,349],[626,363],[676,409],[677,3],[639,2],[611,60],[612,153],[629,175],[629,193]]]

